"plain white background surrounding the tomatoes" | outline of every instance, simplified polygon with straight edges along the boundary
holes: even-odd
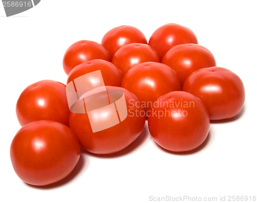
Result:
[[[153,202],[152,197],[257,195],[256,1],[49,1],[6,17],[0,3],[1,173],[0,202]],[[32,187],[15,174],[9,156],[20,129],[15,105],[21,92],[42,79],[66,83],[62,58],[81,39],[101,43],[120,25],[150,38],[166,23],[189,27],[217,66],[241,77],[245,107],[236,119],[212,123],[203,146],[193,153],[160,149],[147,129],[116,155],[86,152],[66,179]],[[5,200],[4,200],[5,199]]]

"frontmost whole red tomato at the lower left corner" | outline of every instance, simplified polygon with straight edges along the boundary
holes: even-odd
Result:
[[[24,182],[45,186],[65,178],[75,168],[80,146],[67,126],[38,120],[16,133],[10,157],[14,171]]]

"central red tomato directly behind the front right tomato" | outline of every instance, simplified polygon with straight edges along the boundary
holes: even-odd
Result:
[[[162,94],[181,90],[176,72],[169,66],[156,62],[145,62],[132,67],[123,77],[121,87],[139,98],[146,113]]]

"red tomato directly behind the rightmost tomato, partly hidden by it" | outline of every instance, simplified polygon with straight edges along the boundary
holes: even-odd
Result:
[[[195,70],[216,66],[212,53],[203,46],[182,44],[171,48],[163,57],[162,62],[176,71],[180,83]]]

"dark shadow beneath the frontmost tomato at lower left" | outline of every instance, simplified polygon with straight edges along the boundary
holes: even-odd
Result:
[[[82,153],[82,151],[83,150],[81,150],[81,155],[80,155],[78,164],[76,165],[74,170],[72,170],[71,173],[64,179],[62,179],[58,182],[55,182],[53,184],[47,185],[47,186],[33,186],[30,184],[27,184],[26,182],[24,182],[24,184],[26,184],[29,187],[36,188],[36,189],[52,189],[52,188],[61,187],[65,184],[67,184],[67,182],[70,182],[72,179],[75,179],[76,177],[78,177],[79,174],[81,174],[82,171],[86,170],[86,168],[88,167],[88,161],[86,160],[85,154]]]

